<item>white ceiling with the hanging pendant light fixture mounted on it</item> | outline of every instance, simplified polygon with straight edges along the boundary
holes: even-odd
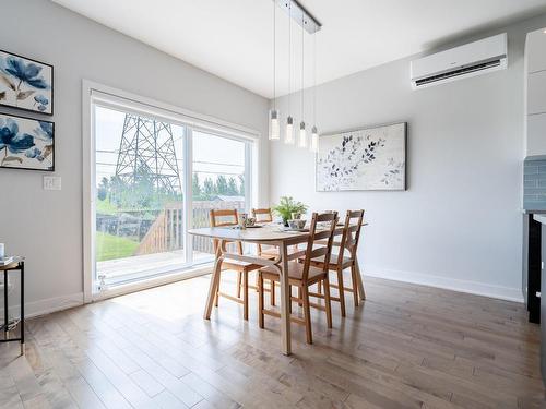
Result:
[[[273,96],[272,0],[52,0],[257,94]],[[546,0],[304,0],[323,83],[436,44],[546,12]],[[277,95],[288,93],[288,23],[277,9]],[[312,85],[314,36],[305,34]],[[301,31],[293,23],[292,91],[301,86]],[[296,74],[297,73],[297,74]]]

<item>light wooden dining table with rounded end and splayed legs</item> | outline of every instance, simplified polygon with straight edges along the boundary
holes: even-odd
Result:
[[[289,285],[288,285],[288,262],[297,260],[302,252],[289,253],[290,246],[306,243],[309,239],[309,231],[290,231],[283,229],[280,225],[261,225],[259,227],[240,229],[238,227],[204,227],[200,229],[191,229],[188,233],[198,237],[206,237],[216,240],[214,269],[209,286],[209,296],[204,311],[204,318],[211,318],[211,312],[214,304],[214,298],[219,285],[222,263],[224,260],[235,260],[258,264],[261,266],[274,267],[281,276],[281,340],[282,352],[286,356],[292,353],[290,347],[290,317],[289,317]],[[343,233],[343,226],[335,229],[335,236]],[[254,243],[262,245],[274,245],[278,249],[278,255],[275,258],[264,258],[252,254],[238,254],[228,250],[229,242],[240,241],[244,243]],[[334,242],[335,245],[335,242]],[[357,266],[358,294],[364,300],[364,285],[360,276],[360,270]]]

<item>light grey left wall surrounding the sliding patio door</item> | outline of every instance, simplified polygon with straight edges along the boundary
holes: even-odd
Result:
[[[33,314],[82,301],[83,79],[241,124],[265,137],[268,100],[49,1],[2,0],[0,9],[0,49],[55,65],[55,175],[62,177],[62,191],[44,191],[44,173],[0,169],[0,242],[9,253],[27,257],[27,313]],[[261,145],[266,167],[268,144]],[[263,172],[265,202],[266,183]]]

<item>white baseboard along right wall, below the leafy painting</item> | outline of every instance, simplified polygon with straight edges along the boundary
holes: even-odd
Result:
[[[523,293],[521,288],[510,288],[477,281],[461,280],[456,278],[434,276],[430,274],[376,267],[366,267],[364,269],[364,276],[443,288],[447,290],[467,292],[471,294],[485,296],[507,301],[523,302]]]

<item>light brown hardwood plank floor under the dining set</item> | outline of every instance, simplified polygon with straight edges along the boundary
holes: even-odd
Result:
[[[28,321],[27,354],[0,346],[2,408],[544,408],[538,327],[520,304],[367,279],[364,306],[314,345],[258,327],[209,277]],[[351,300],[351,299],[349,299]]]

